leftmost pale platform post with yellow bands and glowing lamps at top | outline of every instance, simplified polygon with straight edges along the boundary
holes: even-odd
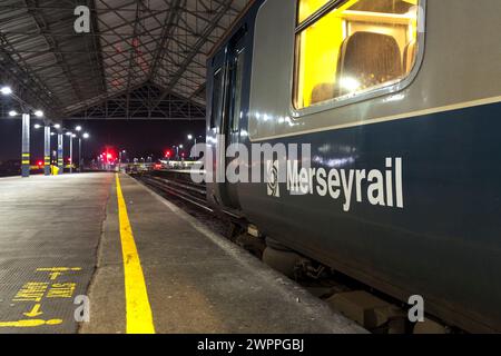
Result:
[[[30,129],[31,129],[31,113],[33,113],[37,118],[43,117],[43,111],[33,109],[30,105],[28,105],[24,100],[16,96],[12,91],[12,88],[4,86],[0,88],[0,93],[6,97],[13,98],[22,109],[22,135],[21,135],[21,176],[23,178],[28,178],[30,176]],[[17,117],[18,112],[11,110],[9,112],[10,117]]]

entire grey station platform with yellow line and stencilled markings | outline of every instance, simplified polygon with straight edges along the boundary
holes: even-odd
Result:
[[[0,179],[0,333],[365,333],[126,175]]]

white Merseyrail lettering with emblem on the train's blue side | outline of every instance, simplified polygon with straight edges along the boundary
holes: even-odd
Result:
[[[404,208],[402,158],[386,158],[385,169],[301,168],[298,160],[287,160],[287,191],[291,196],[317,195],[341,200],[350,211],[353,201],[373,206]],[[279,198],[279,161],[267,161],[268,196]]]

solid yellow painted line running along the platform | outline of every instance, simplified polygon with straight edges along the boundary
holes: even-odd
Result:
[[[127,334],[155,334],[145,276],[134,240],[118,174],[116,175],[116,181],[121,253],[124,257]]]

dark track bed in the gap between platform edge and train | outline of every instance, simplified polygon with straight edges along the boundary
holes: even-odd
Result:
[[[242,238],[247,231],[245,221],[230,211],[216,211],[209,207],[206,202],[205,185],[193,182],[189,172],[155,171],[131,176],[205,222],[216,233],[263,259],[266,244],[263,241],[261,246],[259,244],[256,246],[255,241],[258,239]],[[281,256],[279,259],[284,260],[284,256]],[[407,305],[318,263],[304,258],[303,264],[303,268],[297,274],[287,276],[370,332],[375,334],[415,333],[415,325],[411,325],[406,320]],[[281,268],[276,269],[281,270]],[[355,300],[350,301],[350,299]],[[367,305],[357,306],[356,303],[360,299],[365,300],[370,307]],[[364,307],[367,309],[363,310]],[[373,310],[370,309],[371,307]],[[357,312],[353,313],[350,310],[352,308]],[[363,315],[356,316],[360,312],[363,312]],[[431,319],[426,319],[426,323],[424,328],[420,325],[423,334],[461,332]]]

